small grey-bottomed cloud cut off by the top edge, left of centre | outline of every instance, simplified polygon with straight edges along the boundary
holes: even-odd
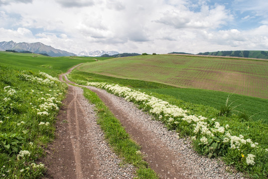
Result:
[[[95,4],[94,0],[56,0],[63,7],[87,7]]]

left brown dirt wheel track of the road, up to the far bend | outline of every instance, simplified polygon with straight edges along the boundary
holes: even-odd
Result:
[[[66,75],[75,67],[60,75],[60,81],[68,81]],[[133,179],[134,167],[121,165],[105,141],[94,105],[84,97],[83,89],[68,83],[67,97],[56,121],[56,139],[41,160],[48,167],[44,178]]]

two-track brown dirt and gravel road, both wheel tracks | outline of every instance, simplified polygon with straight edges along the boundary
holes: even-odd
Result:
[[[75,67],[74,67],[75,68]],[[74,69],[72,68],[72,69]],[[66,74],[72,71],[70,69]],[[66,74],[60,76],[70,82]],[[139,110],[133,103],[103,89],[96,92],[126,131],[140,146],[150,167],[163,179],[241,179],[240,173],[226,172],[223,162],[198,155],[187,139],[167,131],[159,121]],[[96,124],[94,105],[83,90],[69,85],[67,98],[57,121],[57,138],[48,148],[45,165],[49,179],[131,179],[134,167],[120,166]],[[230,170],[230,169],[229,169]]]

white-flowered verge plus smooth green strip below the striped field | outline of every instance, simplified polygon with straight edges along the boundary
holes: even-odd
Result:
[[[265,179],[268,176],[268,99],[212,90],[179,89],[154,82],[81,71],[74,71],[69,78],[78,84],[97,86],[135,102],[154,115],[156,120],[161,120],[169,130],[175,130],[183,137],[191,137],[193,147],[200,154],[220,156],[228,165],[235,166],[251,178]],[[120,84],[121,87],[114,84]],[[129,90],[146,96],[142,98],[134,94],[133,97]],[[147,105],[154,97],[158,102]],[[174,105],[187,112],[179,115],[165,113],[157,109],[157,103],[161,103],[159,100],[166,101],[167,106]],[[221,108],[231,110],[221,112]]]

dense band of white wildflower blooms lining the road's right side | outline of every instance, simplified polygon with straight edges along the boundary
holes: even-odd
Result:
[[[252,166],[255,164],[255,156],[250,152],[258,148],[258,143],[252,142],[251,139],[244,139],[243,135],[231,135],[231,132],[228,131],[228,124],[221,126],[214,118],[208,119],[204,116],[193,115],[190,111],[171,105],[167,101],[127,87],[96,82],[87,83],[87,85],[106,89],[128,101],[139,104],[156,118],[162,120],[169,129],[184,131],[185,134],[192,136],[193,142],[203,148],[203,153],[209,157],[222,155],[223,150],[240,151],[243,149],[248,156],[247,164]]]

